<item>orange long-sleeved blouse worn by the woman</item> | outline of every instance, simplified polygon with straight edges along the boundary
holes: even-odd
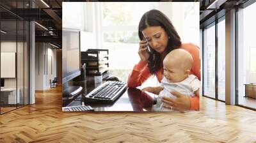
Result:
[[[199,80],[201,80],[201,62],[200,62],[200,51],[199,48],[194,45],[193,43],[182,43],[180,45],[180,49],[187,50],[191,56],[193,57],[193,67],[191,69],[191,74],[198,77]],[[138,87],[143,84],[149,77],[152,76],[152,73],[149,72],[149,69],[147,67],[146,61],[140,61],[138,64],[136,64],[132,70],[132,72],[129,75],[127,86],[128,87]],[[162,68],[160,68],[156,72],[156,77],[159,82],[163,79],[163,73]],[[190,109],[191,110],[199,110],[199,96],[190,97]]]

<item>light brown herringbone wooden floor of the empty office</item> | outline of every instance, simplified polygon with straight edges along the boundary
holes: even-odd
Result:
[[[256,112],[201,97],[200,112],[61,112],[61,89],[0,116],[0,142],[256,142]]]

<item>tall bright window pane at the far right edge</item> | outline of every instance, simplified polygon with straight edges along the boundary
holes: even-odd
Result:
[[[255,98],[246,96],[245,85],[256,82],[256,41],[255,25],[253,19],[256,13],[256,3],[240,9],[238,15],[238,47],[237,47],[237,86],[238,104],[256,109]],[[255,94],[255,93],[254,93]],[[245,96],[245,97],[244,97]]]

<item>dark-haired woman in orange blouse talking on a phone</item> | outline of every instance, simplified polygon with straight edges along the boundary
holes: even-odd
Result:
[[[193,57],[191,74],[200,80],[199,49],[192,43],[181,43],[179,34],[175,31],[172,22],[159,10],[150,10],[145,13],[139,24],[140,62],[136,64],[129,75],[127,86],[138,87],[150,76],[156,75],[157,80],[163,79],[163,59],[173,49],[187,50]],[[149,49],[148,49],[149,47]],[[177,98],[164,97],[163,102],[172,109],[199,110],[199,96],[188,97],[172,92]]]

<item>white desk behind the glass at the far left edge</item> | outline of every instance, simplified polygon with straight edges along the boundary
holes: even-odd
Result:
[[[17,91],[18,94],[16,98],[16,88],[1,89],[1,102],[4,104],[16,104],[16,101],[17,103],[20,103],[20,89],[17,88]]]

